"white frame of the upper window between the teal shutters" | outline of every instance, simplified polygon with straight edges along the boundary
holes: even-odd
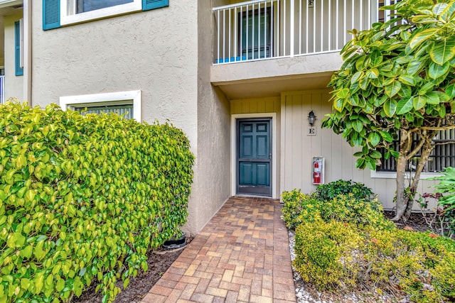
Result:
[[[127,4],[119,4],[116,6],[106,7],[104,9],[96,9],[95,11],[76,13],[75,0],[60,0],[60,24],[65,26],[68,24],[81,23],[141,10],[142,1],[133,0],[133,2]]]

